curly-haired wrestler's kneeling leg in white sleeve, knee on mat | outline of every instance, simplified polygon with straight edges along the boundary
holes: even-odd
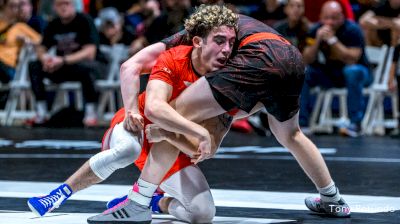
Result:
[[[160,188],[172,197],[162,199],[168,201],[164,205],[167,211],[163,212],[189,223],[212,222],[215,216],[214,200],[198,166],[188,166],[176,172],[163,181]]]

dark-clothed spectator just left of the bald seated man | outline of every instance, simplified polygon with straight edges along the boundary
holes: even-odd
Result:
[[[300,51],[303,51],[310,27],[308,20],[304,17],[304,1],[288,0],[284,10],[287,18],[277,22],[274,28]]]

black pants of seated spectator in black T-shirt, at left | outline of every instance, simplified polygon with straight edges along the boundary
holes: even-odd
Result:
[[[48,78],[54,83],[63,83],[67,81],[77,81],[82,85],[82,93],[86,102],[93,103],[97,100],[97,94],[94,89],[94,80],[99,77],[98,62],[83,61],[72,65],[64,65],[53,73],[43,71],[42,63],[34,61],[29,64],[29,75],[31,78],[32,90],[36,100],[46,100],[46,91],[43,79]]]

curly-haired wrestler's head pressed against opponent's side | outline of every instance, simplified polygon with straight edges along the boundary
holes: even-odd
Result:
[[[237,21],[237,14],[222,5],[200,5],[185,21],[197,72],[205,74],[225,65],[235,42]]]

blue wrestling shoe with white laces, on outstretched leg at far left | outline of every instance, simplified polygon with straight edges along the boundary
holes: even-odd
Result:
[[[44,216],[53,209],[60,207],[71,195],[71,188],[63,184],[46,196],[30,198],[28,206],[36,215]]]

